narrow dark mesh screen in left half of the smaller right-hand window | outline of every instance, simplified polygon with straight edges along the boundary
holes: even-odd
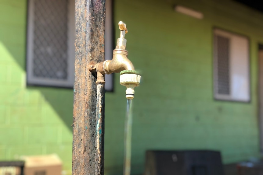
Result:
[[[219,94],[229,94],[229,39],[216,36],[217,45],[217,90]]]

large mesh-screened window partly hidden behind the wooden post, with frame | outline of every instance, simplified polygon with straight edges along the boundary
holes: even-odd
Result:
[[[106,3],[105,59],[112,59],[112,4]],[[27,26],[27,83],[74,86],[75,1],[29,0]],[[113,89],[112,75],[105,89]]]

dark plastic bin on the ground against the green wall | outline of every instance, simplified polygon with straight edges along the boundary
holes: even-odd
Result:
[[[146,151],[144,175],[223,175],[219,151]]]

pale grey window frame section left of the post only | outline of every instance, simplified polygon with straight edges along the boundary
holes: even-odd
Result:
[[[73,0],[68,1],[68,22],[67,22],[67,79],[50,79],[34,76],[34,1],[28,0],[27,14],[27,85],[52,86],[72,88],[74,84],[74,62],[75,62],[75,5]]]

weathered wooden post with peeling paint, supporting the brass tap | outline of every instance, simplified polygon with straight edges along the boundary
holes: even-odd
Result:
[[[88,65],[104,61],[105,0],[76,0],[73,175],[95,174],[96,76]],[[104,131],[103,131],[104,132]],[[102,152],[101,157],[104,157]],[[101,171],[103,174],[103,170]]]

